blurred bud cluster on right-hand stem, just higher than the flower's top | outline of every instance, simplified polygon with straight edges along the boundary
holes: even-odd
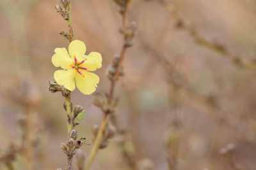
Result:
[[[120,32],[124,35],[124,45],[126,47],[132,46],[132,39],[134,38],[137,25],[132,21],[124,29],[120,29]]]

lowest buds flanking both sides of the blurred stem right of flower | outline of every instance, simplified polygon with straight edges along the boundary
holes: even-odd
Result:
[[[99,131],[99,125],[94,125],[92,129],[92,141],[95,141],[97,133]],[[100,143],[100,149],[106,148],[108,146],[109,139],[113,138],[116,134],[116,128],[113,125],[108,125],[104,131],[102,142]]]

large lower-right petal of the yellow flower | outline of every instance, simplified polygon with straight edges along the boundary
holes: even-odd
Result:
[[[97,84],[100,81],[99,76],[88,71],[83,71],[83,76],[81,74],[76,74],[76,86],[83,94],[88,95],[95,92]]]

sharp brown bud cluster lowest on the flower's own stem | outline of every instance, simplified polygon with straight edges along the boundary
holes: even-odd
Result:
[[[68,139],[66,143],[61,143],[61,150],[67,155],[67,157],[73,157],[78,148],[84,144],[85,138],[78,138],[77,131],[72,130],[68,134]]]

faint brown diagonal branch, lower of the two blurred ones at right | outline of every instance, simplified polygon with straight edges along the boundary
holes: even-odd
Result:
[[[146,41],[141,38],[141,44],[143,48],[156,59],[161,66],[163,66],[164,71],[166,73],[166,81],[168,82],[168,87],[170,93],[179,92],[182,99],[182,103],[190,106],[191,108],[195,108],[196,110],[201,111],[202,113],[207,114],[212,120],[227,125],[230,127],[232,131],[235,131],[239,134],[240,138],[245,140],[248,143],[255,143],[255,139],[251,139],[247,136],[247,134],[253,134],[252,129],[248,127],[248,133],[241,132],[239,130],[239,125],[241,124],[241,120],[239,118],[229,115],[225,113],[225,111],[216,103],[216,97],[214,96],[202,96],[196,92],[193,86],[189,83],[186,76],[184,76],[175,65],[168,60],[169,57],[166,57],[163,52],[159,49],[154,48],[154,46],[148,45]]]

